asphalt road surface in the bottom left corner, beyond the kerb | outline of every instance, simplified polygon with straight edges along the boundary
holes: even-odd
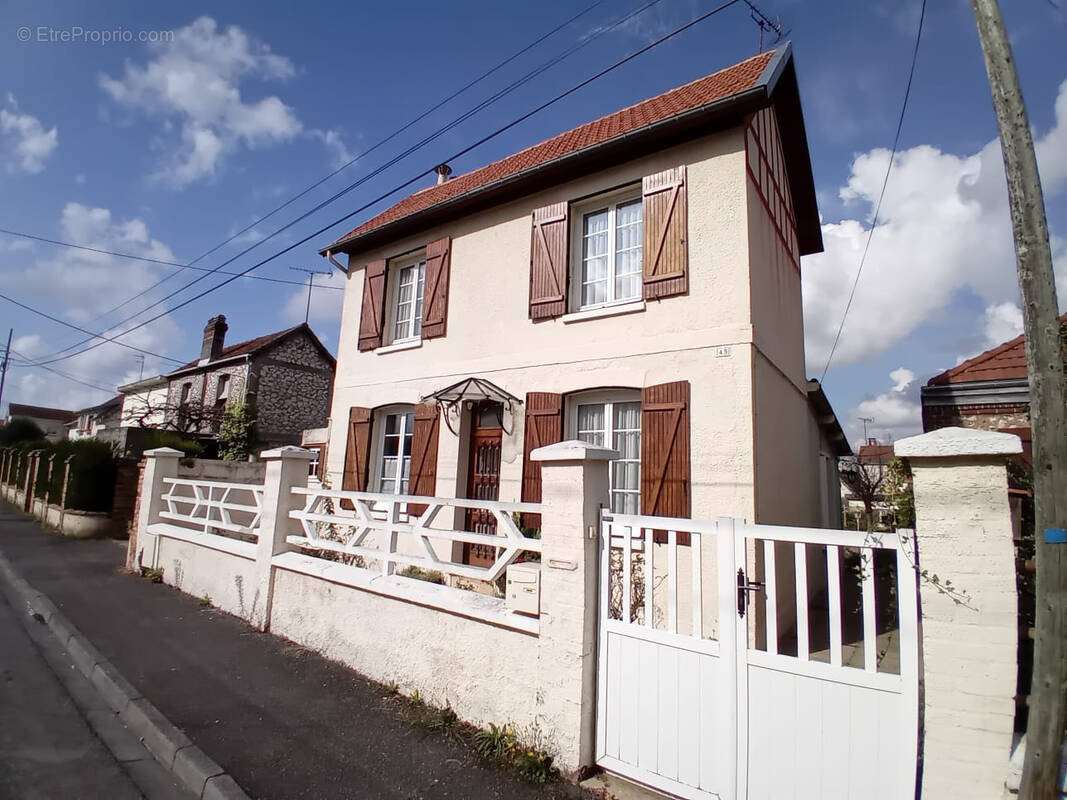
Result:
[[[16,613],[0,594],[0,798],[142,797]]]

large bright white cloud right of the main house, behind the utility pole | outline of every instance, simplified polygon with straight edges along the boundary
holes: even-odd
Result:
[[[1047,197],[1067,188],[1067,81],[1055,112],[1055,125],[1036,143]],[[854,160],[840,196],[866,218],[824,224],[825,252],[805,258],[806,340],[815,368],[825,364],[841,322],[888,161],[882,148]],[[1067,298],[1067,246],[1053,236],[1053,247],[1061,298]],[[1017,303],[1019,291],[997,141],[970,156],[929,145],[897,154],[834,366],[887,351],[935,320],[962,291],[1000,309],[992,320],[987,315],[987,338],[1005,330],[1003,306]],[[991,326],[994,322],[999,326]],[[975,345],[982,340],[975,338]]]

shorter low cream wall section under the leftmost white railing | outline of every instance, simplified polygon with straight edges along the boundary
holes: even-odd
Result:
[[[242,620],[250,620],[265,598],[256,588],[256,562],[232,553],[159,537],[156,566],[163,582],[196,597],[210,597],[211,605]]]

